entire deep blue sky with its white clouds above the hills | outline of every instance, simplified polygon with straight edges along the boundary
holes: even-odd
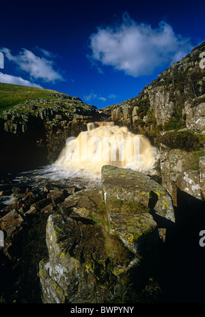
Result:
[[[136,97],[205,40],[204,1],[7,2],[0,82],[57,90],[98,108]]]

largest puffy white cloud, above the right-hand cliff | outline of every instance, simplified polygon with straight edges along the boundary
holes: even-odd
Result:
[[[123,14],[121,25],[98,27],[90,36],[90,48],[93,61],[137,77],[180,60],[193,47],[189,38],[175,34],[163,21],[154,29]]]

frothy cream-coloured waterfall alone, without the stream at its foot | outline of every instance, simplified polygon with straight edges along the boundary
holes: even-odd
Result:
[[[159,151],[143,135],[113,123],[88,123],[87,131],[68,138],[56,166],[85,174],[100,175],[103,165],[153,173]]]

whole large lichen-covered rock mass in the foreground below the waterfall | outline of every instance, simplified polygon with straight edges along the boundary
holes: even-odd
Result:
[[[169,194],[147,175],[103,166],[102,188],[76,192],[58,208],[46,225],[49,258],[40,262],[42,301],[133,301],[154,268],[159,230],[174,224]],[[155,213],[165,222],[158,225]]]

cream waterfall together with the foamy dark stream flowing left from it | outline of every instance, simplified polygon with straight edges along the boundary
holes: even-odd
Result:
[[[47,181],[59,188],[87,188],[100,184],[102,165],[153,174],[158,157],[159,151],[145,136],[131,134],[126,127],[113,123],[88,123],[86,132],[81,132],[77,138],[68,138],[66,147],[54,164],[16,175],[11,188],[25,185],[39,191]],[[1,204],[10,204],[11,198],[0,197],[0,211]]]

